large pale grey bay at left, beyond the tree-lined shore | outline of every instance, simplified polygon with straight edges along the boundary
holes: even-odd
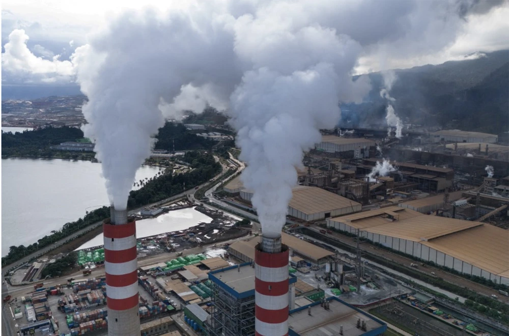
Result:
[[[136,181],[158,167],[143,166]],[[12,245],[30,245],[104,205],[108,195],[101,164],[90,161],[2,160],[2,256]]]

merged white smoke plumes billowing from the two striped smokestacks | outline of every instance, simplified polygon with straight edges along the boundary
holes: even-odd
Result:
[[[457,7],[210,0],[109,20],[76,49],[70,75],[77,74],[88,97],[83,130],[96,143],[111,204],[126,208],[135,172],[150,155],[164,118],[178,119],[181,109],[208,103],[231,115],[247,163],[242,179],[254,190],[262,230],[279,234],[302,152],[320,141],[320,128],[337,125],[339,102],[361,102],[371,89],[367,76],[352,81],[360,55],[387,41],[396,51],[407,45],[407,36],[432,42],[418,44],[427,52],[441,50],[463,24]],[[437,24],[446,39],[437,39]],[[23,65],[18,56],[3,54],[3,68]]]

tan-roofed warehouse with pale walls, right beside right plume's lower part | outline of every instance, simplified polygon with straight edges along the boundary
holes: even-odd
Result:
[[[292,189],[292,193],[288,215],[305,221],[358,212],[362,209],[360,203],[318,187],[297,186]],[[244,201],[250,202],[252,196],[253,191],[240,190],[240,197]]]

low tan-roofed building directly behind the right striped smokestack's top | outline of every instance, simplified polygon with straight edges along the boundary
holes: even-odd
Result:
[[[324,264],[328,257],[334,255],[331,251],[284,232],[281,233],[281,238],[282,243],[287,245],[293,254],[301,256],[313,264]],[[254,247],[259,242],[260,237],[254,237],[248,241],[239,240],[228,247],[228,253],[241,261],[251,262],[254,260]]]

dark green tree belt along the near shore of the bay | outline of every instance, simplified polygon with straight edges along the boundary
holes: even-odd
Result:
[[[190,172],[177,175],[165,173],[150,179],[142,188],[131,191],[127,203],[128,209],[135,209],[172,197],[210,180],[221,172],[220,163],[215,162],[211,153],[187,152],[183,155],[182,160],[192,167]],[[52,231],[50,235],[44,236],[29,246],[10,246],[9,254],[2,257],[2,266],[9,265],[107,217],[109,217],[109,208],[102,207],[89,212],[83,218],[66,223],[61,230]]]

